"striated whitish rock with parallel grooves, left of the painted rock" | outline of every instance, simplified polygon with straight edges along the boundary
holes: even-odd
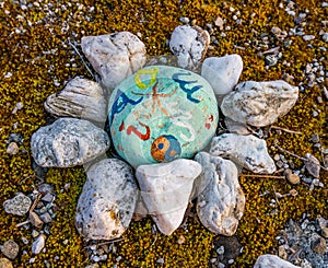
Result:
[[[57,117],[77,117],[98,123],[106,121],[106,105],[102,86],[79,77],[45,102],[46,110]]]

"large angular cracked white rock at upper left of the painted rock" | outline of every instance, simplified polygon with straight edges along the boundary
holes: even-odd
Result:
[[[81,46],[107,89],[114,89],[145,63],[144,44],[129,32],[85,36]]]

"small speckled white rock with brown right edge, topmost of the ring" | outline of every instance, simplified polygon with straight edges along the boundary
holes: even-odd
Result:
[[[199,65],[210,45],[208,31],[199,26],[177,26],[169,39],[169,48],[178,58],[178,66],[192,69]]]

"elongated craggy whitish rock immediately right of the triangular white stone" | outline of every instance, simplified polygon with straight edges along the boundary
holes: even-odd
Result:
[[[197,213],[201,223],[215,234],[234,235],[245,208],[236,165],[206,152],[198,153],[195,160],[203,168],[204,189],[197,199]]]

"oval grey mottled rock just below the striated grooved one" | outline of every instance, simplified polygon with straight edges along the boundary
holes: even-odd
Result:
[[[31,140],[35,162],[44,167],[82,165],[104,154],[109,137],[92,123],[75,118],[59,118],[39,128]]]

